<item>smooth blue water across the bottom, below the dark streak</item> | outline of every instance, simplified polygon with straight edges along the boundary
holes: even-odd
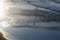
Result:
[[[54,28],[7,28],[4,31],[13,40],[60,40],[60,29]]]

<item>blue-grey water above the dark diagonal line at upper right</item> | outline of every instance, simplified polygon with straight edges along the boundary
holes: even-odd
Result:
[[[25,0],[30,5],[60,12],[59,0]]]

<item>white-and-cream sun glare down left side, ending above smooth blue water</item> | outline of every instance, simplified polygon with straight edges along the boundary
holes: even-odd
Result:
[[[6,2],[7,0],[0,0],[0,25],[2,27],[8,27],[9,23],[7,20],[7,11],[9,9],[9,3]]]

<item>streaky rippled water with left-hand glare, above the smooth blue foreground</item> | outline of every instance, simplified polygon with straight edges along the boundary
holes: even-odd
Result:
[[[2,1],[0,23],[11,26],[60,26],[60,1],[6,0]],[[4,4],[3,4],[4,3]]]

